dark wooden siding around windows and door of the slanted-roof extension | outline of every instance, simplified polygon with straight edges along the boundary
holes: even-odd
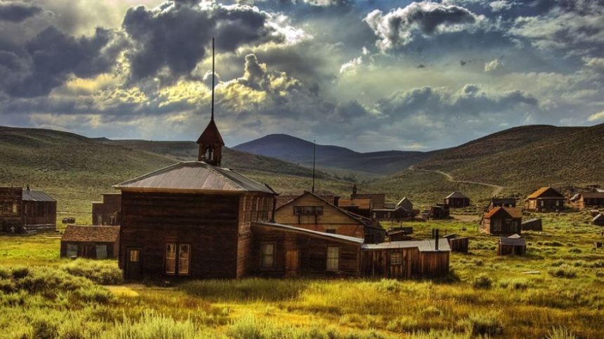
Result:
[[[252,225],[251,275],[285,277],[287,251],[297,250],[298,275],[318,277],[346,277],[359,275],[360,244],[294,230],[279,229],[261,224]],[[273,268],[261,269],[261,244],[275,244]],[[327,270],[327,246],[340,249],[339,270]],[[290,275],[291,276],[291,275]]]

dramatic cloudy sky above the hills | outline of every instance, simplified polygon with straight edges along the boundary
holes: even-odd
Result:
[[[604,0],[0,0],[0,125],[428,151],[604,123]]]

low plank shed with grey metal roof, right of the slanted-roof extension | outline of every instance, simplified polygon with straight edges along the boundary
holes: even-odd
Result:
[[[444,238],[363,244],[361,275],[392,279],[446,277],[449,252],[449,242]]]

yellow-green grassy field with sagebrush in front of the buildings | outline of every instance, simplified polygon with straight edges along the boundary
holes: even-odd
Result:
[[[416,237],[432,228],[470,237],[442,281],[122,285],[114,261],[59,260],[53,237],[0,237],[0,336],[601,338],[604,249],[593,241],[603,229],[584,212],[540,216],[544,231],[525,233],[527,255],[508,257],[469,219],[409,223]]]

